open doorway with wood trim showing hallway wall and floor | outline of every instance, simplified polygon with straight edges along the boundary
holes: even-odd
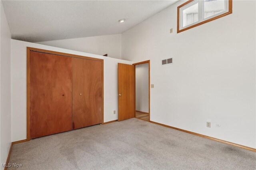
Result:
[[[150,60],[134,63],[134,117],[150,121]]]

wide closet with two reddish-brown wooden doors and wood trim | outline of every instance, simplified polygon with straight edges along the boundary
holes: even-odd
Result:
[[[27,138],[102,123],[103,60],[28,47]]]

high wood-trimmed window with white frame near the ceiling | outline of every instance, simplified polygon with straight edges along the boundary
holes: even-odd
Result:
[[[189,0],[178,6],[177,33],[232,14],[232,0]]]

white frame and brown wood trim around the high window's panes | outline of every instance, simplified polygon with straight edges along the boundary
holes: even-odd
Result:
[[[190,6],[198,3],[198,21],[194,22],[192,24],[189,24],[187,26],[183,26],[183,11]],[[177,32],[182,32],[184,30],[188,30],[190,28],[194,28],[195,25],[201,25],[210,22],[212,18],[217,19],[223,16],[226,16],[228,14],[232,14],[232,0],[225,0],[225,10],[223,12],[214,14],[212,16],[209,16],[207,18],[204,18],[204,0],[189,0],[188,2],[185,2],[186,5],[178,6],[178,28]],[[230,8],[231,6],[231,8]],[[230,10],[231,9],[231,10]],[[188,29],[187,29],[188,28]]]

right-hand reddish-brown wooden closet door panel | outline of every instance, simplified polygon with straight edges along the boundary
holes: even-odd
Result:
[[[73,58],[73,129],[102,123],[102,61]]]

